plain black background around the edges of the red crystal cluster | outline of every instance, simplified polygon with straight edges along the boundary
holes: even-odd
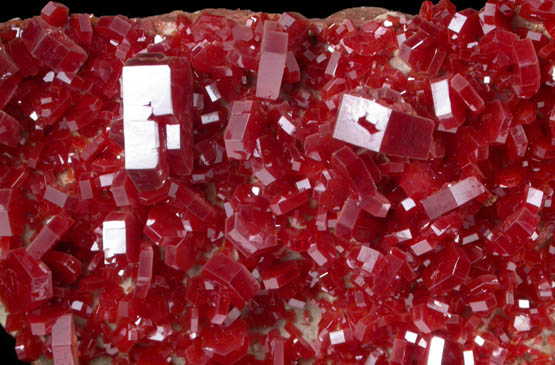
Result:
[[[140,0],[139,0],[140,1]],[[47,1],[11,0],[10,5],[4,5],[0,9],[0,22],[19,17],[28,18],[39,15],[40,10]],[[434,1],[436,3],[437,1]],[[133,3],[121,0],[79,0],[62,1],[70,8],[71,13],[92,13],[96,16],[122,14],[128,17],[144,17],[169,13],[173,10],[197,11],[205,8],[228,8],[228,9],[248,9],[253,11],[263,11],[268,13],[282,13],[284,11],[297,11],[308,18],[325,18],[336,11],[357,7],[357,6],[377,6],[390,10],[397,10],[408,14],[416,14],[420,9],[419,0],[367,0],[367,1],[317,1],[316,3],[303,0],[259,0],[255,1],[149,1],[142,0],[140,3],[135,0]],[[484,1],[462,1],[452,0],[458,10],[464,8],[480,9]],[[18,364],[14,351],[15,341],[8,336],[0,326],[0,354],[2,363]],[[4,362],[6,361],[6,362]]]

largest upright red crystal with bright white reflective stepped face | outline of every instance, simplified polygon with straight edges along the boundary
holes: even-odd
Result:
[[[156,55],[137,56],[123,68],[125,168],[139,191],[159,189],[168,165],[176,176],[191,173],[190,73],[187,60]],[[155,75],[152,84],[146,75]]]

